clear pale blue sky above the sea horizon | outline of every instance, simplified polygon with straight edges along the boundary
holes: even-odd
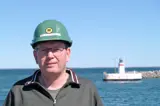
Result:
[[[37,68],[35,27],[61,21],[73,40],[69,67],[160,66],[159,0],[3,0],[0,68]]]

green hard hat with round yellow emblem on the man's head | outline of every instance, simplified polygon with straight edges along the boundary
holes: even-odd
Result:
[[[44,41],[64,41],[69,47],[72,45],[72,40],[68,35],[65,26],[57,20],[45,20],[40,23],[34,32],[34,37],[31,46],[34,48],[39,42]]]

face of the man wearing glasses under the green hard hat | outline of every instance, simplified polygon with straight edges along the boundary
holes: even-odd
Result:
[[[41,71],[60,73],[70,58],[70,48],[60,41],[48,41],[37,45],[34,57]]]

